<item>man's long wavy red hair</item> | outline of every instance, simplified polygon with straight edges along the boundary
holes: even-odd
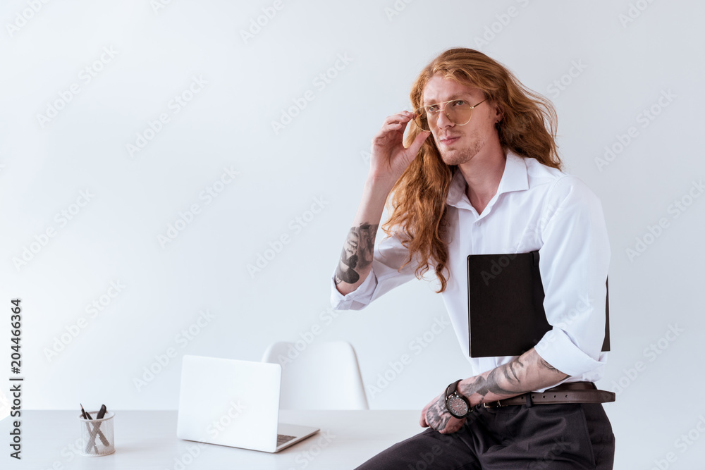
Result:
[[[448,49],[422,70],[412,86],[413,109],[422,106],[424,88],[434,75],[482,89],[488,101],[500,106],[503,119],[497,125],[497,132],[505,153],[512,151],[544,165],[562,168],[556,146],[556,111],[551,101],[522,85],[501,63],[474,49]],[[411,123],[406,147],[419,132]],[[443,162],[433,137],[428,138],[394,185],[389,200],[391,216],[382,225],[387,235],[393,230],[402,235],[403,244],[409,249],[403,266],[417,256],[417,278],[422,278],[429,266],[434,265],[441,282],[437,293],[446,290],[448,283],[444,272],[448,271],[446,197],[457,168]]]

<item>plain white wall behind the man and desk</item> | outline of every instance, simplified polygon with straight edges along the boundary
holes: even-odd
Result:
[[[603,202],[613,351],[598,385],[618,391],[606,405],[615,468],[654,466],[668,452],[673,468],[705,458],[705,197],[689,196],[705,176],[701,2],[285,0],[245,39],[271,1],[37,1],[36,13],[29,3],[0,11],[0,350],[9,362],[10,299],[20,297],[25,408],[176,409],[183,354],[259,360],[270,342],[316,328],[315,341],[353,342],[368,385],[410,354],[393,381],[368,390],[374,409],[420,409],[469,375],[449,327],[412,349],[447,318],[428,283],[364,311],[326,311],[372,136],[409,109],[419,70],[462,46],[552,99],[567,171]],[[336,61],[342,70],[321,86]],[[194,78],[205,84],[189,97]],[[40,122],[72,85],[78,94]],[[307,90],[314,99],[275,132]],[[170,101],[183,93],[191,100],[176,113]],[[168,123],[130,155],[161,113]],[[600,166],[606,147],[615,156]],[[223,168],[238,174],[219,186]],[[200,197],[214,185],[216,198]],[[319,213],[307,212],[317,201]],[[200,213],[160,243],[193,204]],[[283,235],[288,244],[250,273]],[[637,239],[648,245],[630,259]],[[201,311],[212,319],[192,326]],[[169,348],[175,357],[146,381]]]

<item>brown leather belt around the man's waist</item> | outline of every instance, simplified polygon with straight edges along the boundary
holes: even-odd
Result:
[[[542,393],[522,393],[522,395],[506,400],[484,403],[484,407],[508,407],[515,404],[525,404],[527,407],[531,407],[534,404],[605,403],[615,401],[615,396],[614,392],[597,390],[597,387],[592,382],[568,382],[548,388]]]

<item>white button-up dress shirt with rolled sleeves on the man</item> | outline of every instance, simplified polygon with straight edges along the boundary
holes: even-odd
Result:
[[[570,376],[565,382],[599,380],[607,360],[601,349],[611,256],[599,198],[577,177],[511,153],[497,193],[482,214],[470,204],[466,188],[465,178],[456,171],[446,199],[450,278],[441,295],[474,375],[506,364],[515,356],[470,357],[467,255],[539,250],[544,310],[552,329],[535,348],[548,364]],[[369,276],[348,295],[338,292],[333,274],[333,308],[360,310],[415,278],[416,259],[398,271],[407,255],[396,235],[385,237],[374,250]],[[428,273],[434,273],[433,265]]]

